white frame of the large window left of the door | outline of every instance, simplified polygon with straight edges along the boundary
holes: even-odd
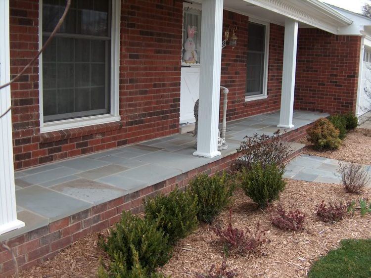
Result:
[[[112,0],[110,113],[105,115],[88,116],[44,123],[43,54],[41,54],[39,56],[39,111],[41,133],[120,121],[121,119],[119,114],[120,16],[121,16],[121,1]],[[43,38],[43,0],[39,0],[39,49],[43,46],[42,38]]]

